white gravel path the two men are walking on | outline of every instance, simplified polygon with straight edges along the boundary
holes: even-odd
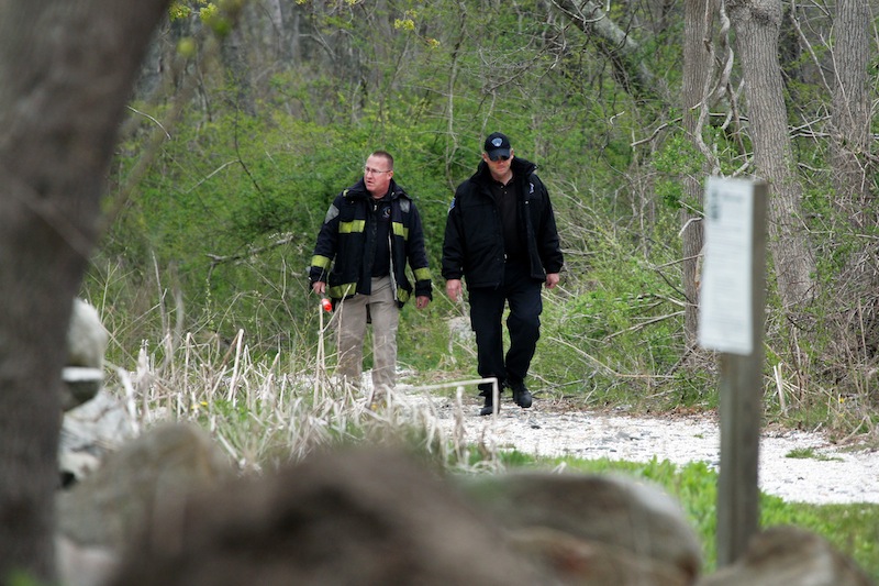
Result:
[[[443,427],[455,421],[454,399],[434,398]],[[649,462],[654,456],[678,465],[705,462],[720,465],[720,428],[715,417],[628,417],[583,411],[535,399],[520,409],[508,397],[497,417],[479,417],[481,403],[463,398],[468,441],[514,447],[544,456]],[[813,457],[788,457],[793,450],[812,449]],[[759,453],[760,489],[787,501],[813,504],[879,504],[879,452],[843,451],[820,433],[764,430]]]

